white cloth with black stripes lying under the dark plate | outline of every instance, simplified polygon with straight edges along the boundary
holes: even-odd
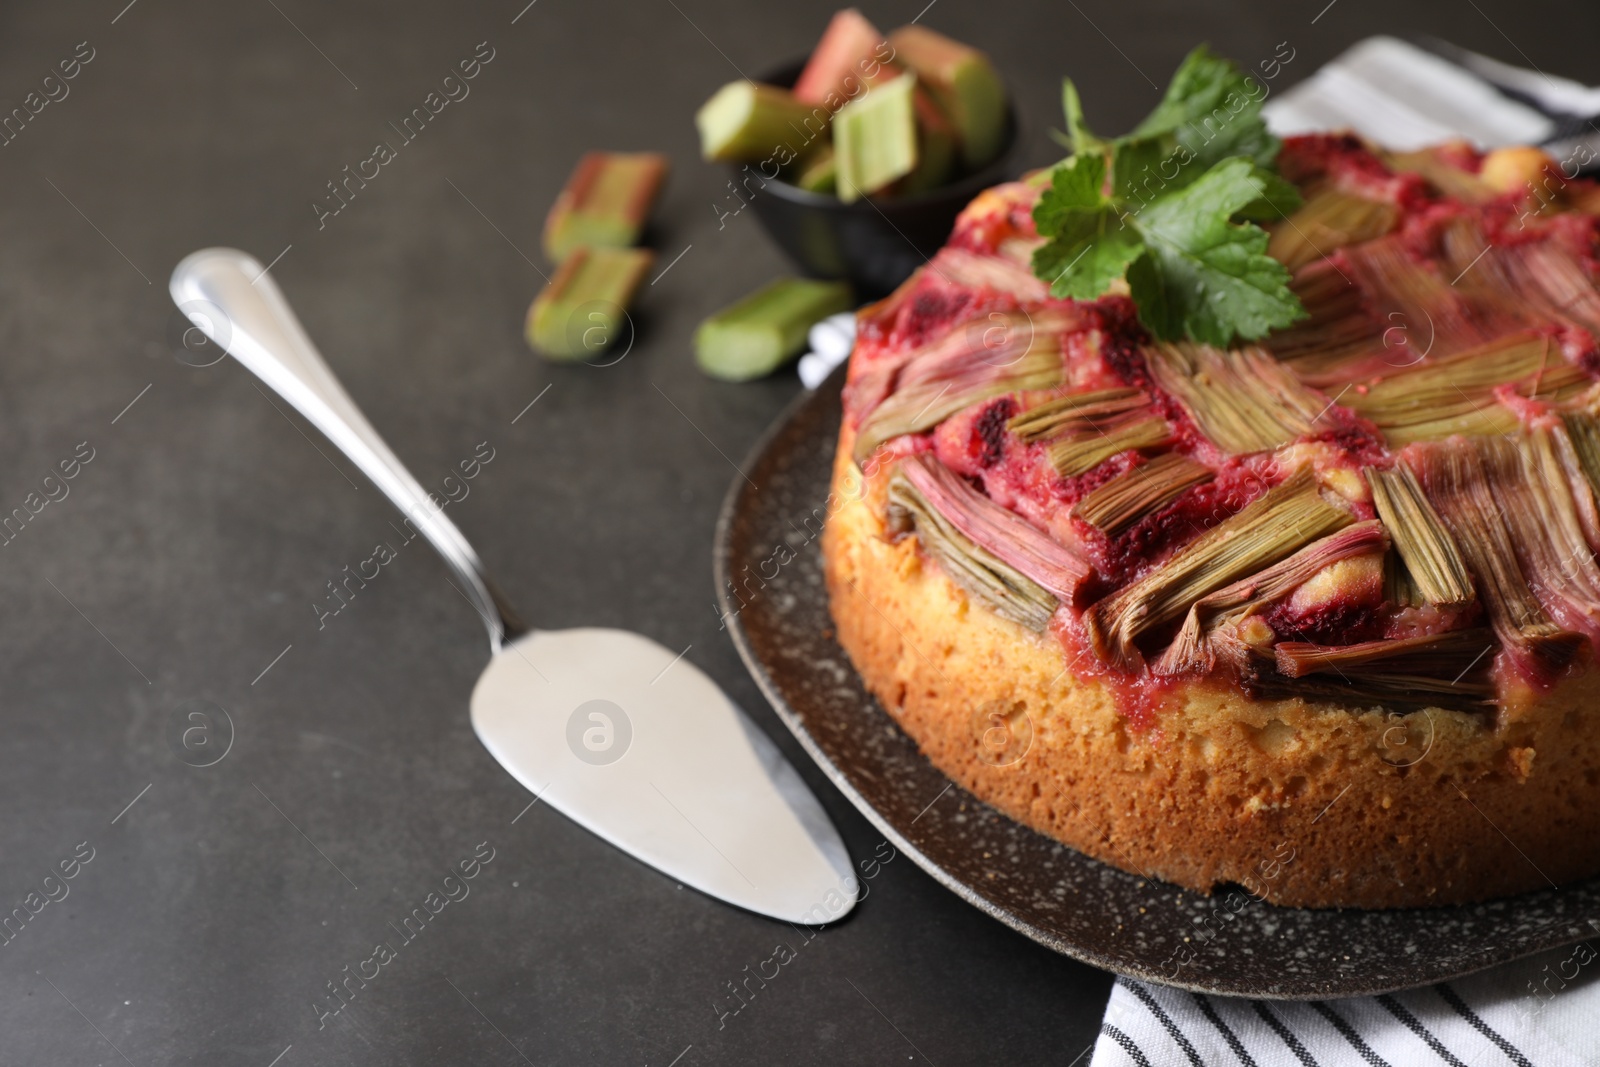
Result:
[[[1448,136],[1485,149],[1554,149],[1589,126],[1563,115],[1600,110],[1600,91],[1574,82],[1478,56],[1466,62],[1477,74],[1392,37],[1368,38],[1269,99],[1266,117],[1278,134],[1354,128],[1397,149]],[[1512,98],[1478,74],[1510,83]],[[1242,1000],[1117,979],[1090,1067],[1600,1067],[1594,945],[1600,937],[1454,982],[1352,1000]]]

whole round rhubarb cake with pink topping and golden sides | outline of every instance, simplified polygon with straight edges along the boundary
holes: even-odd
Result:
[[[861,312],[838,640],[946,774],[1144,877],[1403,907],[1600,873],[1600,189],[1349,136],[1278,170],[1307,315],[1258,342],[1051,298],[1040,176]]]

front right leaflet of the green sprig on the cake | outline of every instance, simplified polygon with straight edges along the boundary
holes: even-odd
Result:
[[[1306,317],[1288,267],[1267,254],[1266,230],[1229,221],[1261,194],[1254,165],[1232,158],[1139,214],[1149,254],[1128,285],[1150,333],[1227,346]]]

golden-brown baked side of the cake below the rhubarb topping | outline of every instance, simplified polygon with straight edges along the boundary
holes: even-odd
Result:
[[[1494,717],[1352,712],[1181,681],[1134,729],[1056,638],[968,600],[883,530],[842,432],[822,534],[838,641],[960,785],[1125,870],[1274,904],[1478,901],[1600,872],[1600,680],[1582,664]]]

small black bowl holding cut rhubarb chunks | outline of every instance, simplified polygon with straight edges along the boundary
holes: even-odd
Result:
[[[757,80],[789,88],[803,67],[803,61],[795,61]],[[762,226],[805,274],[848,278],[856,296],[870,299],[891,291],[939,251],[950,237],[955,216],[973,197],[1013,176],[1019,142],[1016,107],[1008,102],[1006,139],[1000,155],[982,170],[925,194],[845,203],[781,179],[765,184],[749,181],[755,171],[742,166],[734,168],[734,186],[749,197]]]

